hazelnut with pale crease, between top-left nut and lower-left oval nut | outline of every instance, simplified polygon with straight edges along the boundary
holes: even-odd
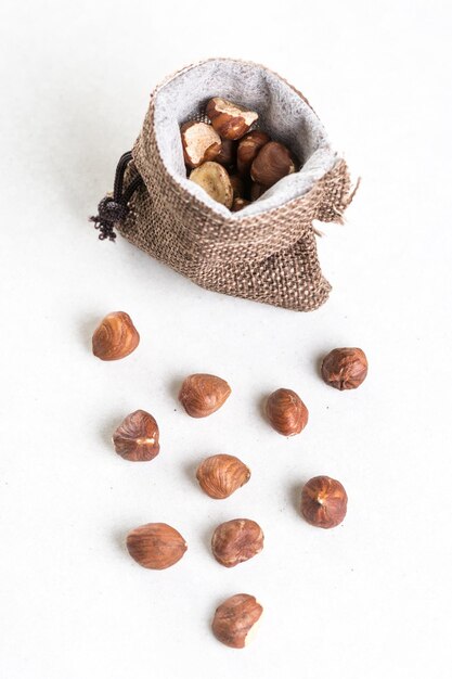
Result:
[[[117,427],[113,443],[116,452],[125,460],[153,460],[160,450],[157,423],[145,410],[135,410]]]

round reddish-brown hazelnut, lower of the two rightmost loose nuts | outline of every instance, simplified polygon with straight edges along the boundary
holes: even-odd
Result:
[[[347,492],[330,476],[314,476],[301,491],[301,514],[312,526],[334,528],[347,514]]]

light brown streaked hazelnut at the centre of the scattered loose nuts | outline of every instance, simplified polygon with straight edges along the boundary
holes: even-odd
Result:
[[[197,467],[199,486],[210,498],[223,500],[248,483],[251,472],[234,456],[217,454],[206,458]]]

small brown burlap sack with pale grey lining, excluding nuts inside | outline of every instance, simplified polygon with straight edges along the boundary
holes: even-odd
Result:
[[[183,165],[179,126],[202,117],[215,95],[257,111],[258,126],[304,163],[240,213],[211,201]],[[118,231],[198,285],[298,311],[326,300],[312,221],[341,221],[349,174],[307,100],[271,71],[221,59],[167,78],[151,97],[124,183],[129,209],[116,214]]]

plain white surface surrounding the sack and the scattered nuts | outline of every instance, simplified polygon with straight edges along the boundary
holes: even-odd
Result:
[[[450,3],[0,7],[1,677],[450,678]],[[205,292],[87,222],[153,87],[212,55],[264,63],[301,89],[363,178],[347,225],[324,228],[334,291],[311,315]],[[91,333],[119,309],[141,344],[104,363]],[[366,351],[360,389],[321,381],[335,346]],[[199,371],[233,395],[196,421],[176,395]],[[294,439],[260,413],[280,386],[310,409]],[[137,408],[160,425],[148,464],[109,443]],[[194,470],[220,451],[253,476],[215,502]],[[348,490],[334,530],[298,513],[317,474]],[[261,524],[266,548],[225,569],[209,538],[236,516]],[[150,521],[188,540],[173,568],[127,554],[127,531]],[[209,625],[241,591],[264,617],[234,651]]]

